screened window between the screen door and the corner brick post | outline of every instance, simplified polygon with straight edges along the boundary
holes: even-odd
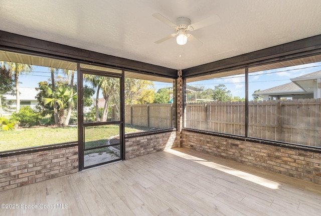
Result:
[[[126,133],[175,127],[175,88],[171,78],[125,71]]]

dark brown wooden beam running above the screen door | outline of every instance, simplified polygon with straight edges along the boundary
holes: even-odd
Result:
[[[106,55],[5,31],[0,31],[0,49],[81,63],[95,62],[105,66],[119,67],[119,69],[145,71],[154,75],[177,78],[177,70],[175,69]]]

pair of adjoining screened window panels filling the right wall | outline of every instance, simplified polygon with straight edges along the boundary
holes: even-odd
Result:
[[[321,55],[249,67],[247,106],[244,71],[187,78],[184,127],[320,148]]]

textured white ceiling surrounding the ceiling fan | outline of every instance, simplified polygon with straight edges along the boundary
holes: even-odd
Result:
[[[215,25],[180,46],[151,15]],[[0,30],[108,55],[185,69],[321,34],[320,0],[1,0]]]

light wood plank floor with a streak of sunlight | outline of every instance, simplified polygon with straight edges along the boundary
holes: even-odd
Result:
[[[3,191],[0,203],[19,205],[6,216],[303,216],[321,215],[321,186],[176,148]]]

